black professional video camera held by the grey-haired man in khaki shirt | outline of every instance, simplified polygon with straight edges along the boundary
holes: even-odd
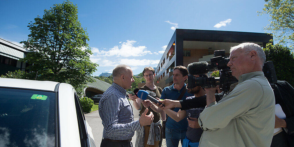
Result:
[[[201,86],[203,88],[220,86],[220,89],[228,94],[230,85],[238,82],[238,80],[232,76],[230,67],[227,66],[230,59],[225,58],[225,50],[214,51],[214,57],[210,59],[211,64],[208,64],[209,71],[219,70],[220,77],[207,77],[201,75],[201,77],[194,77],[188,75],[188,88],[194,88]]]

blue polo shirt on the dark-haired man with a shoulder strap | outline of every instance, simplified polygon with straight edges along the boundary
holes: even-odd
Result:
[[[160,99],[178,100],[178,97],[181,95],[181,92],[183,91],[185,86],[186,86],[186,83],[181,88],[180,91],[175,89],[173,85],[163,88]],[[194,94],[188,93],[186,91],[186,93],[184,94],[181,100],[185,100],[189,96],[194,96]],[[180,108],[173,109],[173,111],[175,112],[178,112],[179,110]],[[173,120],[171,117],[168,116],[166,121],[166,127],[169,129],[187,130],[187,127],[188,127],[187,118],[184,118],[179,122],[176,122],[175,120]]]

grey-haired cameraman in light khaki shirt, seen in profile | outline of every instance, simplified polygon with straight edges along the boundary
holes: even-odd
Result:
[[[199,146],[270,146],[275,99],[262,68],[264,51],[254,43],[231,47],[230,67],[238,85],[216,103],[218,86],[205,88],[207,107],[198,123],[204,130]]]

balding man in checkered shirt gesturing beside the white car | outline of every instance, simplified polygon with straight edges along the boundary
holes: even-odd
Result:
[[[134,121],[133,108],[126,97],[126,89],[131,88],[134,81],[130,66],[118,65],[112,71],[113,83],[103,93],[99,101],[99,115],[102,119],[103,138],[101,147],[132,147],[131,139],[135,131],[142,126],[150,125],[153,113],[146,115],[144,111],[139,120]]]

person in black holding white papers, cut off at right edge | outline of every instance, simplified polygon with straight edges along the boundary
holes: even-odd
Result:
[[[294,88],[286,81],[275,85],[275,133],[270,146],[294,146]]]

